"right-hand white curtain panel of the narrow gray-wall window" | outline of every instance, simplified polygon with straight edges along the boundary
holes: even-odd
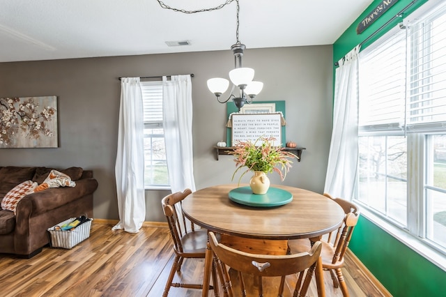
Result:
[[[162,77],[163,126],[171,191],[195,191],[190,75]]]

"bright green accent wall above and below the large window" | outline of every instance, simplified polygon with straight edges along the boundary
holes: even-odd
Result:
[[[409,15],[416,8],[422,6],[427,0],[418,0],[411,6],[404,16]],[[376,0],[364,13],[351,24],[351,26],[333,44],[333,61],[339,61],[353,47],[362,43],[368,36],[374,33],[380,26],[399,13],[411,0],[399,0],[374,24],[364,32],[357,35],[358,22],[380,3]],[[386,29],[401,22],[394,20]],[[362,45],[362,50],[374,42],[386,32],[386,29],[377,33],[371,40]],[[333,68],[335,71],[335,68]],[[334,77],[334,74],[333,74]],[[334,84],[334,82],[333,82]],[[351,250],[369,268],[383,286],[393,296],[446,296],[446,272],[432,264],[417,252],[408,248],[396,238],[383,231],[376,224],[360,217],[350,245]]]

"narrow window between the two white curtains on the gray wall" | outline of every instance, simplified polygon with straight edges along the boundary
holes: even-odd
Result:
[[[144,186],[167,189],[166,146],[162,126],[162,82],[141,82],[144,104]]]

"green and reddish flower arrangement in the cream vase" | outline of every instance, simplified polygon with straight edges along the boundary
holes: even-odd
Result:
[[[274,137],[259,137],[255,142],[237,141],[234,150],[229,152],[236,157],[234,161],[237,169],[233,173],[232,179],[242,167],[247,167],[238,179],[239,183],[240,179],[249,171],[265,172],[266,174],[274,171],[280,175],[283,181],[293,163],[291,159],[298,158],[298,156],[284,151],[280,146],[274,146],[275,140]],[[259,142],[261,144],[257,145]]]

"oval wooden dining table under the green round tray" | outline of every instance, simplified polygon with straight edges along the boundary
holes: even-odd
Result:
[[[231,190],[243,186],[247,185],[215,185],[192,192],[183,200],[183,213],[195,224],[215,233],[268,240],[309,238],[318,241],[344,220],[344,211],[332,199],[286,185],[271,185],[291,193],[293,199],[282,206],[247,206],[229,199]],[[213,252],[208,248],[203,296],[208,294],[212,259]],[[316,278],[316,283],[318,293],[324,296],[323,281]]]

